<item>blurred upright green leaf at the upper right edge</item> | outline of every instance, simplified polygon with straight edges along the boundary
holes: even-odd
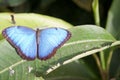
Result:
[[[108,13],[106,29],[117,39],[120,39],[120,0],[114,0]]]

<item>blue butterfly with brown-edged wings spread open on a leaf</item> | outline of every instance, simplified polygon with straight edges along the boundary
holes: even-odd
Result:
[[[25,60],[49,59],[71,37],[71,33],[63,28],[35,31],[25,26],[8,27],[2,34]]]

